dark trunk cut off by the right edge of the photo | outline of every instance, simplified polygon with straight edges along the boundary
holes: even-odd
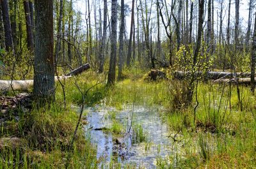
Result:
[[[254,94],[255,89],[255,60],[256,60],[256,13],[255,13],[255,20],[254,20],[254,33],[253,33],[253,41],[252,41],[252,64],[251,64],[251,90]]]

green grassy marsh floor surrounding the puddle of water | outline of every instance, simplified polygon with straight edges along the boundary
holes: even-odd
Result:
[[[58,85],[56,103],[50,110],[35,108],[26,114],[20,111],[19,120],[14,118],[1,124],[0,168],[65,168],[68,146],[78,119],[74,105],[83,103],[77,85],[84,92],[98,83],[86,94],[86,107],[115,108],[110,114],[111,121],[115,122],[109,127],[113,135],[121,135],[124,128],[116,121],[116,114],[124,111],[124,105],[142,106],[148,110],[161,107],[157,115],[170,132],[168,139],[173,146],[179,147],[179,151],[158,156],[157,168],[256,167],[256,98],[250,87],[239,85],[239,102],[236,85],[199,82],[193,104],[183,108],[179,100],[183,96],[184,82],[151,82],[145,80],[146,74],[147,71],[136,68],[125,70],[124,79],[113,87],[105,85],[105,75],[93,72],[69,79],[65,82],[66,109],[63,108],[63,89]],[[84,135],[88,121],[84,117],[79,128],[70,168],[97,168],[104,161],[97,158],[96,147]],[[15,141],[13,138],[17,138],[17,142],[6,145],[10,143],[6,140]],[[109,165],[122,166],[112,159]]]

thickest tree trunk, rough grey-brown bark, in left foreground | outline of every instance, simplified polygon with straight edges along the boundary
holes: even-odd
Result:
[[[53,2],[35,0],[35,96],[54,100]]]

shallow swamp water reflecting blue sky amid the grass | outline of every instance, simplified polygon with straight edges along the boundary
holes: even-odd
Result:
[[[122,166],[157,168],[157,159],[168,158],[177,152],[173,139],[168,137],[171,134],[168,126],[159,117],[158,108],[125,106],[124,110],[118,111],[98,106],[85,111],[88,121],[86,136],[97,146],[97,159],[105,161],[101,166],[107,166],[105,164],[117,156],[117,162]],[[121,136],[111,133],[113,119],[122,124],[124,132]],[[131,134],[125,137],[125,145],[117,145],[116,138],[124,137],[129,130]]]

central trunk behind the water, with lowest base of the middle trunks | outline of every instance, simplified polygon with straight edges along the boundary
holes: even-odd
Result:
[[[116,78],[116,22],[117,22],[117,0],[111,3],[111,56],[109,61],[108,85],[115,84]]]

